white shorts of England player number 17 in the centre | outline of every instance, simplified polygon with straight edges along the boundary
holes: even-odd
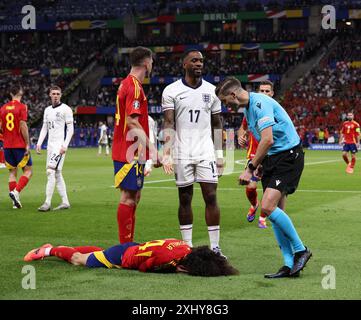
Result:
[[[195,182],[218,183],[218,170],[214,159],[176,160],[174,173],[177,187],[187,187]]]

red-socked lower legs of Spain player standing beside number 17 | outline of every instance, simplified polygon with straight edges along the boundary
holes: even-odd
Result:
[[[119,242],[132,242],[135,232],[135,211],[140,201],[140,191],[121,189],[118,206]]]

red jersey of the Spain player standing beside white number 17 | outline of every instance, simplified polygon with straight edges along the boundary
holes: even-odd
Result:
[[[130,163],[135,156],[138,156],[142,161],[149,159],[149,149],[146,148],[138,154],[137,144],[132,137],[127,134],[129,128],[127,126],[127,116],[136,114],[139,116],[138,121],[149,137],[148,125],[148,103],[145,97],[142,84],[132,75],[128,75],[120,84],[117,93],[114,137],[112,146],[113,160]],[[140,149],[140,148],[139,148]],[[128,151],[129,150],[129,151]],[[128,159],[127,159],[128,151]]]

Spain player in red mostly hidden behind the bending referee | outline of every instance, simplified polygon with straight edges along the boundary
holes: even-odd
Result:
[[[273,97],[274,91],[273,91],[273,83],[271,81],[265,80],[262,81],[259,85],[258,92],[263,93],[269,97]],[[247,134],[248,134],[248,147],[247,147],[247,162],[252,160],[254,158],[254,155],[256,154],[257,147],[258,147],[258,141],[254,137],[254,135],[251,132],[248,131],[248,125],[247,120],[244,117],[242,121],[242,125],[239,128],[238,131],[238,144],[241,147],[245,147],[247,145]],[[255,219],[256,212],[259,206],[258,198],[257,198],[257,182],[259,179],[255,176],[252,177],[250,183],[246,187],[246,195],[251,203],[251,207],[248,210],[247,214],[247,220],[248,222],[252,222]],[[267,228],[266,223],[266,215],[261,212],[259,219],[258,219],[258,227],[261,229]]]

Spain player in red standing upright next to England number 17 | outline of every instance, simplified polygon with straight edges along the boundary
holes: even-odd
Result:
[[[120,243],[133,241],[135,211],[143,188],[144,165],[149,159],[148,104],[142,82],[152,71],[152,51],[137,47],[129,60],[130,73],[117,93],[112,144],[115,187],[121,190],[117,211]]]

